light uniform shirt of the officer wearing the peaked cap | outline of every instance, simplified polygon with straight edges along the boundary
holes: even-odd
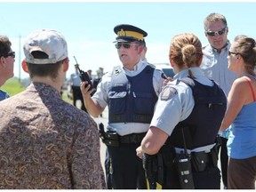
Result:
[[[134,70],[128,70],[122,68],[124,74],[127,76],[137,76],[140,72],[146,68],[147,62],[140,60],[140,62],[134,67]],[[159,69],[155,69],[153,74],[153,86],[158,96],[162,90],[164,79],[161,77],[163,72]],[[108,106],[108,90],[110,89],[112,71],[102,76],[100,84],[98,84],[97,91],[93,94],[92,99],[96,100],[101,108]],[[116,131],[119,135],[127,135],[132,133],[148,132],[149,124],[141,123],[113,123],[108,124],[108,129]]]

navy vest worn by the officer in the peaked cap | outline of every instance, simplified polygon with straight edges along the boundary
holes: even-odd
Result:
[[[126,76],[120,68],[114,68],[108,92],[109,123],[150,123],[157,100],[154,70],[148,65],[139,75]]]

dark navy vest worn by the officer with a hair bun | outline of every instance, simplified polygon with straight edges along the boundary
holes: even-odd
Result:
[[[195,107],[187,119],[176,125],[169,141],[176,148],[184,148],[180,129],[183,127],[188,149],[214,143],[227,108],[225,93],[213,81],[213,86],[200,84],[190,77],[180,81],[191,87]],[[177,81],[177,84],[180,81]]]

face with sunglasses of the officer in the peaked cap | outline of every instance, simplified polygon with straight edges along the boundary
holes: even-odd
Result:
[[[139,62],[142,45],[136,42],[117,42],[116,49],[125,68],[132,70]]]

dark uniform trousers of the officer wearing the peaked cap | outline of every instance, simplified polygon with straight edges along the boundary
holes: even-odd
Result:
[[[110,161],[109,175],[112,188],[147,189],[142,160],[136,155],[140,144],[120,144],[119,147],[108,146]]]

